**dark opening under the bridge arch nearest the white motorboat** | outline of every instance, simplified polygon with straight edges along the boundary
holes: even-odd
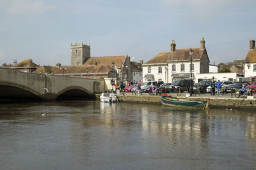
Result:
[[[79,86],[67,87],[61,90],[60,92],[58,92],[58,94],[56,94],[56,99],[92,98],[92,97],[93,97],[92,92],[89,92],[87,89],[84,89],[83,87],[79,87]]]

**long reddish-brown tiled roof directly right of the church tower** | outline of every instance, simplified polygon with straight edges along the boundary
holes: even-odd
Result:
[[[97,62],[97,65],[99,64],[107,64],[112,68],[112,62],[115,63],[116,67],[122,67],[122,64],[124,62],[125,55],[121,56],[108,56],[108,57],[90,57],[86,62],[84,62],[84,66],[86,65],[94,65],[95,62]]]

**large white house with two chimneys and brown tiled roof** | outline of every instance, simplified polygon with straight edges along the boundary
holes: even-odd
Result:
[[[196,74],[209,73],[209,57],[205,49],[204,38],[200,41],[200,48],[192,48],[192,78],[197,81]],[[143,67],[143,81],[163,80],[172,82],[173,80],[189,79],[191,57],[189,48],[176,49],[172,40],[170,52],[161,52],[152,59],[145,62]]]

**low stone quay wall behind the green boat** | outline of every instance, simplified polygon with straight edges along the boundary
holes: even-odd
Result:
[[[99,99],[100,94],[96,95]],[[172,94],[175,96],[175,94]],[[176,95],[177,96],[177,95]],[[161,99],[159,96],[149,96],[148,94],[143,94],[142,96],[135,96],[131,93],[125,93],[125,96],[117,96],[119,102],[122,103],[147,103],[147,104],[161,104]],[[180,98],[186,98],[185,94],[179,96]],[[189,97],[189,99],[205,99],[209,98],[209,108],[228,108],[228,109],[256,109],[256,99],[247,99],[246,97],[236,98],[230,95],[223,96],[209,96],[209,94],[204,94],[200,96]]]

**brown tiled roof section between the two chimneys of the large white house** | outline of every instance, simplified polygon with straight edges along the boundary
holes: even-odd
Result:
[[[184,49],[177,49],[173,53],[170,53],[170,57],[168,57],[168,62],[169,61],[176,61],[176,60],[190,60],[190,55],[189,55],[189,50],[190,48],[184,48]],[[202,55],[205,51],[204,49],[201,48],[192,48],[194,51],[192,55],[192,60],[200,60],[202,58]]]

